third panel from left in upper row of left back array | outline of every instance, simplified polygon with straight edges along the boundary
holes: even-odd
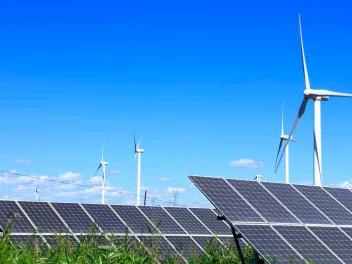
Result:
[[[76,203],[51,203],[73,233],[99,233],[94,222]]]

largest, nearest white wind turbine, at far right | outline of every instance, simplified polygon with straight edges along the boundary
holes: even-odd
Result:
[[[291,138],[293,132],[295,131],[299,121],[301,120],[304,111],[306,109],[308,100],[311,99],[314,101],[314,126],[313,126],[313,184],[315,186],[321,186],[322,182],[322,158],[321,158],[321,113],[320,113],[320,102],[327,101],[330,97],[352,97],[352,94],[333,92],[329,90],[317,90],[311,89],[309,78],[308,78],[308,70],[306,65],[306,58],[304,56],[304,47],[303,47],[303,38],[302,38],[302,26],[301,26],[301,17],[298,15],[299,22],[299,32],[300,32],[300,41],[301,41],[301,56],[302,56],[302,66],[303,66],[303,74],[305,80],[305,90],[303,91],[303,101],[299,107],[298,114],[295,122],[293,123],[291,132],[288,138]],[[277,171],[282,156],[285,152],[286,147],[288,146],[289,140],[286,141],[284,149],[281,153],[281,156],[276,163],[275,172]]]

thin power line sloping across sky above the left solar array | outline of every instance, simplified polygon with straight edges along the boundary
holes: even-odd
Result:
[[[26,174],[22,174],[22,173],[18,173],[18,172],[10,172],[10,171],[0,170],[0,173],[7,173],[7,174],[10,174],[12,176],[29,177],[29,178],[33,178],[33,179],[37,179],[37,180],[41,180],[41,181],[48,181],[48,182],[54,182],[54,183],[60,183],[60,184],[74,185],[74,186],[87,188],[87,189],[93,188],[93,189],[103,190],[102,187],[91,187],[91,186],[84,185],[84,184],[73,183],[73,182],[65,182],[65,181],[60,181],[60,180],[55,180],[55,179],[42,178],[40,176],[26,175]],[[130,196],[135,196],[135,197],[137,196],[137,194],[134,194],[133,192],[115,191],[115,190],[109,190],[109,189],[106,189],[106,188],[104,188],[104,191],[108,191],[108,192],[111,192],[111,193],[125,194],[125,195],[130,195]],[[153,201],[169,203],[169,204],[172,204],[172,205],[178,205],[178,206],[186,207],[185,205],[175,204],[173,202],[169,202],[169,201],[165,201],[165,200],[161,200],[161,199],[157,199],[157,198],[149,197],[147,199],[150,199],[150,200],[153,200]]]

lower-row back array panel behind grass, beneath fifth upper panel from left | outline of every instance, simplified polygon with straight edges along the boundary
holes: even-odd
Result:
[[[161,260],[178,256],[175,249],[163,236],[138,236],[143,245],[149,249],[152,255],[157,255]]]

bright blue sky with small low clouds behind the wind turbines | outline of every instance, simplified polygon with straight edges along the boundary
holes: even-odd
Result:
[[[5,1],[0,169],[94,187],[106,140],[108,168],[119,171],[107,176],[111,190],[135,192],[136,132],[142,183],[162,200],[184,188],[179,204],[206,206],[186,175],[254,178],[255,169],[229,165],[239,159],[283,181],[283,166],[273,172],[281,104],[289,132],[304,89],[297,15],[312,88],[352,93],[348,10],[347,1]],[[309,102],[290,148],[294,183],[313,177],[312,110]],[[352,178],[351,112],[349,99],[322,104],[324,185]],[[33,182],[9,177],[1,197],[34,199]],[[42,199],[100,200],[91,189],[40,185]],[[109,202],[135,200],[115,194]]]

